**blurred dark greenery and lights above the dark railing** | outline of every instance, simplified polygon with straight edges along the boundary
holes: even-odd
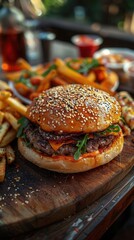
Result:
[[[16,0],[15,3],[27,18],[112,26],[134,34],[133,0]]]

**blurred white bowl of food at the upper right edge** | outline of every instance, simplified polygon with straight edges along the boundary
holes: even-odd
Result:
[[[94,54],[106,67],[113,70],[122,69],[126,63],[134,61],[134,51],[126,48],[103,48]]]

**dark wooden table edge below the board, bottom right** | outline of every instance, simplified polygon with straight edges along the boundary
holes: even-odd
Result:
[[[97,240],[134,201],[134,169],[109,193],[83,211],[32,233],[20,240]],[[17,240],[18,236],[13,238]]]

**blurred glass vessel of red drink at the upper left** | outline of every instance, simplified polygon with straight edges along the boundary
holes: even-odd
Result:
[[[25,18],[13,5],[14,1],[2,1],[0,9],[0,52],[3,71],[18,71],[19,58],[26,59]]]

